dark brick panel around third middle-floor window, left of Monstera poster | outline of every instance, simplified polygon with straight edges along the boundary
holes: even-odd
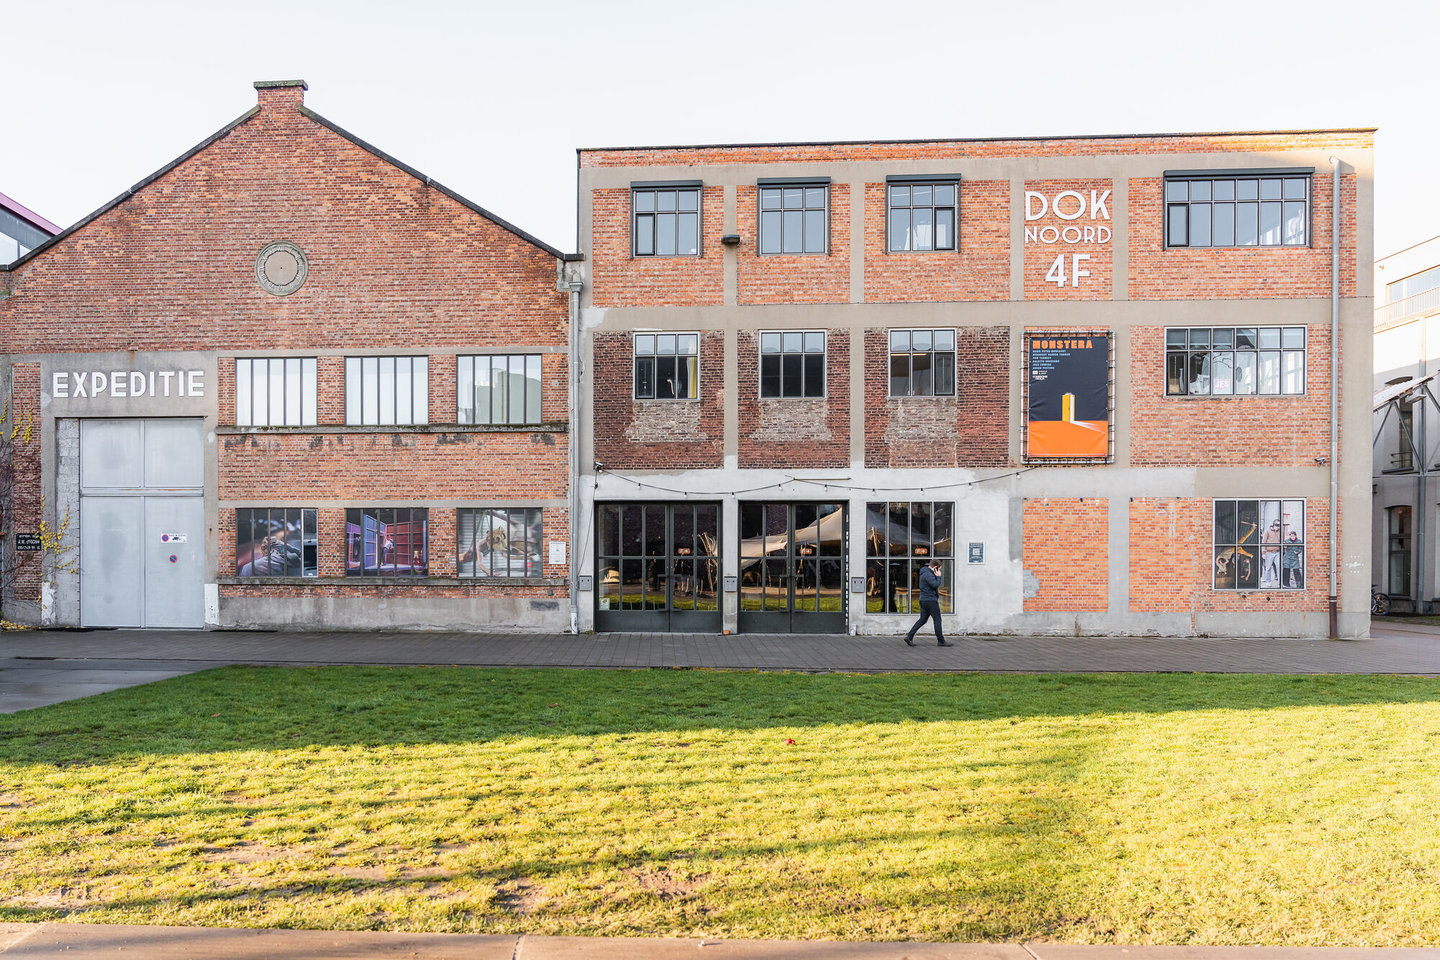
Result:
[[[865,331],[865,466],[1009,463],[1009,330],[956,331],[956,396],[890,393],[888,330]]]

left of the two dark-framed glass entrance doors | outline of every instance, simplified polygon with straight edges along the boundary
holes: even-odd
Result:
[[[720,632],[720,505],[596,507],[596,630]]]

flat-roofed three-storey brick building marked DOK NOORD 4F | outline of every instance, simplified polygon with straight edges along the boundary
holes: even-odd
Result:
[[[952,630],[1367,632],[1372,131],[580,150],[579,189],[582,628],[899,633],[939,557]]]

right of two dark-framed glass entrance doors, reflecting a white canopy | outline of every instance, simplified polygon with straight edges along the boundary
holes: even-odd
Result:
[[[740,504],[746,633],[844,633],[845,504]]]

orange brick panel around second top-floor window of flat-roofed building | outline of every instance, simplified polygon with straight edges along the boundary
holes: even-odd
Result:
[[[736,190],[740,232],[739,301],[742,304],[844,304],[850,301],[850,186],[829,186],[829,252],[760,256],[759,191]]]

